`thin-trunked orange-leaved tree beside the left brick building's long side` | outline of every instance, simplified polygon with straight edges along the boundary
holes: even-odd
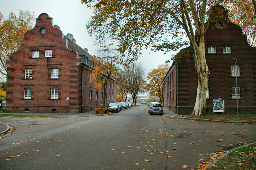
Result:
[[[106,106],[106,86],[109,81],[115,81],[116,66],[120,63],[117,51],[112,47],[98,49],[98,57],[94,61],[91,84],[95,89],[103,88],[103,108]]]

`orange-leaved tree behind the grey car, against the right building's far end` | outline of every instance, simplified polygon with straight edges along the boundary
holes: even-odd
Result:
[[[164,76],[167,74],[170,68],[169,63],[161,64],[158,68],[152,69],[148,73],[148,84],[146,85],[146,90],[149,92],[150,96],[157,96],[162,103],[162,89]]]

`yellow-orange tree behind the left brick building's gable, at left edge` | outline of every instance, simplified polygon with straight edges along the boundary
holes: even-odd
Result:
[[[0,12],[0,73],[2,76],[7,75],[6,60],[11,53],[17,51],[20,47],[20,41],[26,31],[34,27],[34,12],[28,10],[19,10],[16,16],[11,12],[7,18]]]

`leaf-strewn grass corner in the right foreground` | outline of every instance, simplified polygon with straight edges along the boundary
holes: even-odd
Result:
[[[218,162],[216,162],[208,170],[226,169],[226,170],[255,170],[256,169],[256,144],[248,145],[236,149]]]

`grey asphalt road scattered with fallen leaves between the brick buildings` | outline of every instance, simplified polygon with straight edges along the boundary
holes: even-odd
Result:
[[[206,154],[256,141],[256,125],[149,115],[137,106],[80,118],[0,118],[15,127],[0,139],[0,169],[179,170]],[[135,130],[135,131],[134,131]]]

